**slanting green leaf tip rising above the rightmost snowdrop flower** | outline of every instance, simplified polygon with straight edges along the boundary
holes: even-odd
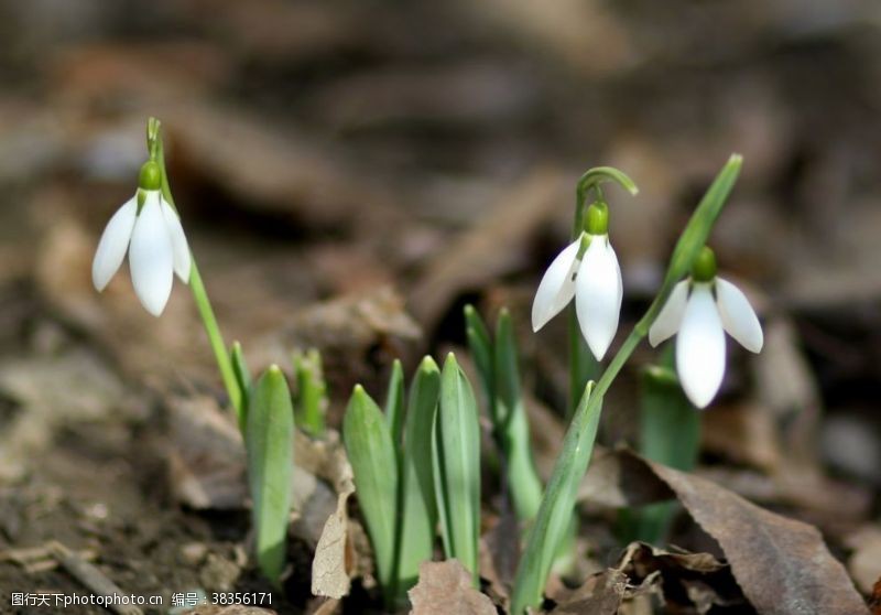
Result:
[[[742,157],[731,154],[731,158],[728,159],[726,165],[719,171],[719,174],[704,194],[685,230],[679,236],[679,240],[676,242],[670,260],[665,283],[677,281],[692,270],[692,263],[700,252],[700,248],[707,242],[713,226],[716,224],[716,218],[719,217],[719,213],[721,213],[722,206],[731,193],[735,182],[737,182],[742,162]]]

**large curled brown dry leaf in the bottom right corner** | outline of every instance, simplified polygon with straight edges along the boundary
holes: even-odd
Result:
[[[624,475],[627,481],[621,479]],[[762,615],[867,613],[844,565],[829,553],[814,526],[628,451],[591,466],[586,484],[602,488],[607,503],[617,499],[622,505],[644,504],[646,494],[670,489],[719,543],[743,594]]]

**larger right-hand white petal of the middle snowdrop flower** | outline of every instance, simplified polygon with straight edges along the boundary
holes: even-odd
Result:
[[[601,360],[621,314],[621,268],[606,237],[594,237],[575,280],[575,309],[578,324],[590,352]]]

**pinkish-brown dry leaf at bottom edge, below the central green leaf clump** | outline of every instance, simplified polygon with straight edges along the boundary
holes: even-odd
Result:
[[[492,601],[471,586],[471,574],[458,560],[420,564],[420,581],[407,595],[411,615],[496,615]]]

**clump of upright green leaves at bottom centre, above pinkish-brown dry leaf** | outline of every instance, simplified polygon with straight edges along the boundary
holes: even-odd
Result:
[[[425,357],[406,395],[392,366],[384,412],[356,387],[342,423],[379,581],[390,605],[402,604],[434,555],[438,521],[445,554],[477,584],[480,436],[474,391],[450,354],[443,374]]]

